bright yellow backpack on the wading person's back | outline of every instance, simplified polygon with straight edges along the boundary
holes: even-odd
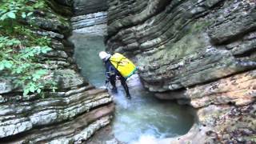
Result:
[[[136,71],[136,66],[122,54],[115,53],[110,57],[110,62],[124,78],[129,78]]]

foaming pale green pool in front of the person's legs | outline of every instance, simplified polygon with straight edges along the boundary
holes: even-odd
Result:
[[[152,143],[149,138],[158,142],[158,138],[173,138],[190,130],[194,123],[192,107],[154,98],[154,94],[143,88],[137,74],[128,78],[127,84],[130,87],[131,99],[126,98],[120,82],[117,82],[117,93],[109,88],[115,102],[113,121],[86,143]]]

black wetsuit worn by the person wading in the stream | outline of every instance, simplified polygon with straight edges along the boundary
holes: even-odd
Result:
[[[106,78],[110,81],[111,85],[113,86],[113,89],[116,90],[115,82],[116,82],[116,76],[120,78],[121,84],[123,88],[126,90],[126,97],[130,97],[129,87],[126,84],[126,78],[122,76],[118,72],[118,70],[115,69],[115,67],[111,64],[110,58],[108,58],[105,61],[106,66]]]

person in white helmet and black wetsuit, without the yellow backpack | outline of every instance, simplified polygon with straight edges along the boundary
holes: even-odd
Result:
[[[112,90],[114,92],[117,92],[117,87],[115,86],[116,80],[117,80],[117,76],[120,79],[122,86],[124,88],[124,90],[126,90],[126,97],[127,98],[131,98],[130,97],[130,92],[129,92],[129,87],[126,84],[126,78],[122,76],[122,74],[117,70],[117,68],[113,65],[113,61],[111,60],[112,55],[111,54],[107,54],[105,51],[101,51],[99,54],[99,57],[102,59],[102,61],[105,63],[105,67],[106,67],[106,83],[110,82],[111,85],[113,86]],[[122,56],[122,54],[119,54]],[[118,56],[119,56],[118,55]],[[122,56],[123,57],[123,56]],[[125,57],[121,58],[124,59]],[[120,60],[120,61],[121,61]],[[117,67],[119,65],[120,62],[117,62]],[[121,65],[120,65],[121,66]],[[129,68],[128,68],[129,69]],[[135,70],[134,70],[135,71]],[[134,73],[133,71],[133,73]],[[132,74],[130,74],[132,75]],[[130,77],[130,75],[128,77]],[[127,77],[127,78],[128,78]]]

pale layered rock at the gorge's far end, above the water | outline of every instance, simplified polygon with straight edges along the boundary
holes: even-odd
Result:
[[[79,8],[81,6],[88,8]],[[72,36],[75,37],[76,35],[82,35],[84,39],[88,40],[90,43],[98,43],[92,40],[94,38],[101,39],[103,42],[104,36],[106,36],[107,26],[106,1],[74,0],[74,9],[76,14],[70,19],[73,26]],[[74,42],[72,37],[70,39],[72,42]],[[89,47],[86,46],[86,48]]]

